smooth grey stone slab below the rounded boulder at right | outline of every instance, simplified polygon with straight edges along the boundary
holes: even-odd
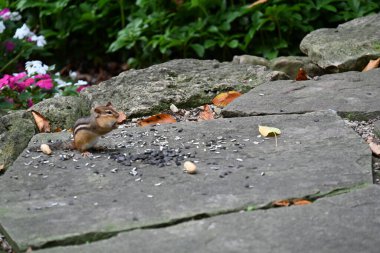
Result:
[[[267,82],[240,96],[226,117],[334,110],[346,116],[380,115],[380,69],[321,76],[318,80]]]

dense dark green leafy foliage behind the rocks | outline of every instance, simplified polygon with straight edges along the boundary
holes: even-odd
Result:
[[[5,0],[0,0],[0,3]],[[7,2],[7,1],[5,1]],[[17,0],[53,58],[142,67],[173,58],[299,54],[310,31],[380,11],[377,0]]]

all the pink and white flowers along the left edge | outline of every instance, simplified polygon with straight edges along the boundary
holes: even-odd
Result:
[[[41,61],[19,64],[20,58],[28,59],[32,52],[46,45],[45,38],[26,24],[19,27],[20,20],[18,12],[0,10],[0,109],[28,108],[45,98],[78,95],[87,82],[66,82],[59,73],[52,73],[54,66]],[[70,77],[74,80],[75,73]]]

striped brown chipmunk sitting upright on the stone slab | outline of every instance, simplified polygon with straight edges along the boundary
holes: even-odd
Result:
[[[89,149],[93,148],[98,138],[117,128],[119,113],[108,102],[105,106],[95,107],[91,116],[80,118],[74,124],[73,134],[75,149],[88,156]]]

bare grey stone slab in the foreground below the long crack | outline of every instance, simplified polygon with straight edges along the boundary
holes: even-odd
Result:
[[[311,205],[233,213],[168,228],[120,233],[109,240],[36,253],[377,253],[379,195],[380,187],[372,185],[319,199]]]

